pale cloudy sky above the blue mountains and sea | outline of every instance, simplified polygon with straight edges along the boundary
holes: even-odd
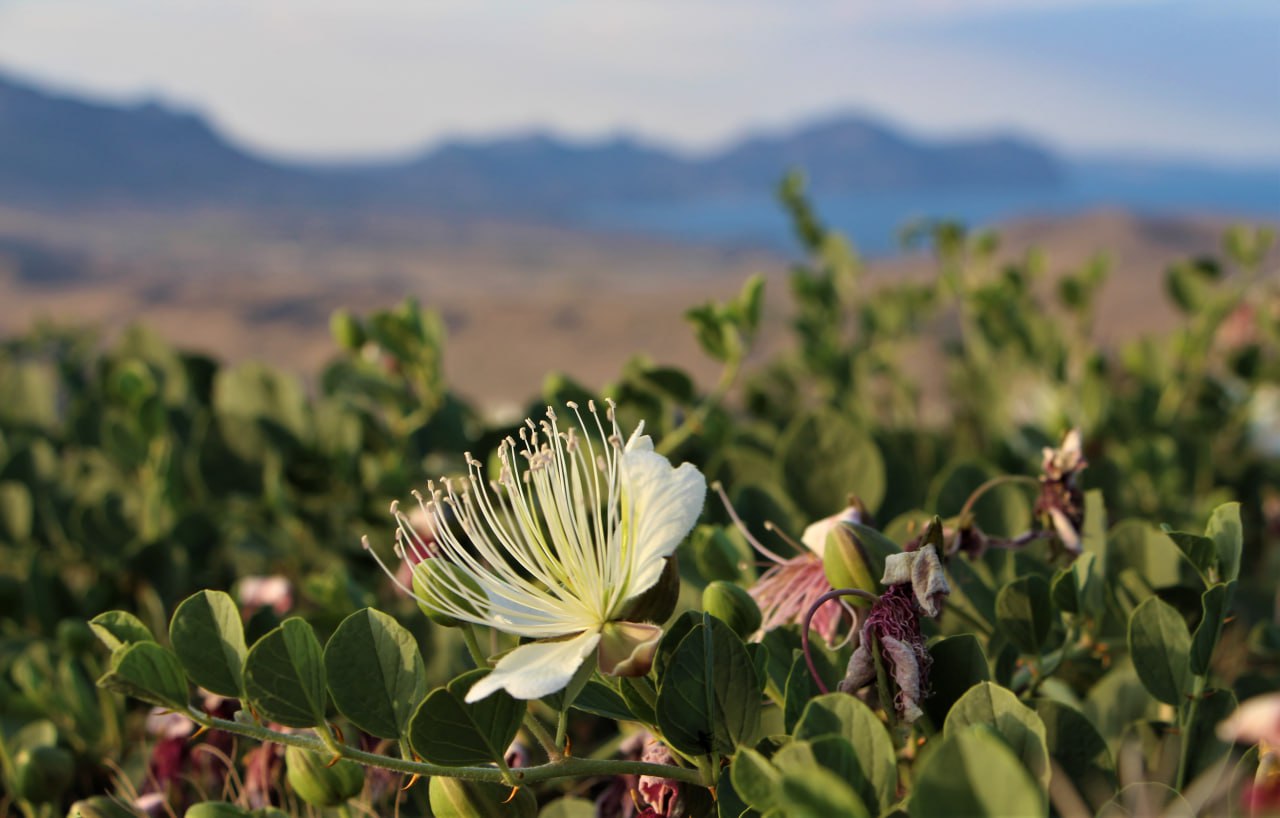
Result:
[[[0,0],[0,69],[307,157],[529,128],[699,151],[861,110],[1280,161],[1277,0]]]

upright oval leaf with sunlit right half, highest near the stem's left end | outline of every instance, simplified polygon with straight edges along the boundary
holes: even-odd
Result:
[[[220,696],[244,695],[244,626],[239,609],[223,591],[202,590],[173,612],[169,643],[191,680]]]

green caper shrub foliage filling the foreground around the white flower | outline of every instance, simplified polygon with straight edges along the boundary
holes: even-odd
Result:
[[[142,328],[5,342],[0,804],[773,818],[1276,798],[1275,746],[1220,730],[1280,687],[1271,236],[1171,266],[1179,326],[1103,346],[1102,257],[1048,282],[1037,252],[997,262],[996,236],[928,223],[904,238],[937,277],[873,284],[799,179],[781,193],[805,250],[783,352],[749,356],[755,278],[687,312],[723,365],[708,390],[636,358],[598,394],[552,375],[530,402],[613,399],[716,489],[636,600],[660,641],[540,700],[467,702],[516,640],[429,618],[361,549],[389,556],[393,501],[518,433],[449,390],[433,311],[335,314],[314,384]],[[814,605],[832,582],[846,594]]]

